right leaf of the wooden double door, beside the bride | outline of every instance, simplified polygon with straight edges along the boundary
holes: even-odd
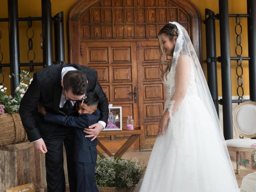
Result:
[[[164,87],[159,65],[158,41],[137,42],[140,124],[144,125],[140,149],[152,148],[164,110]]]

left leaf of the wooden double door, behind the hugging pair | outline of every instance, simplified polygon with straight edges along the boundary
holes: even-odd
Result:
[[[134,118],[134,124],[138,125],[138,101],[132,94],[138,88],[136,42],[82,42],[82,48],[82,65],[98,72],[108,102],[122,106],[122,128],[126,129],[126,120],[130,115]],[[121,135],[106,137],[102,143],[110,151],[117,151],[125,141]],[[130,149],[139,150],[139,141]]]

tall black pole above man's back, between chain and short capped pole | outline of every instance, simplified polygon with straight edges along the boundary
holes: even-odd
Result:
[[[52,65],[52,8],[50,0],[42,0],[43,62]]]

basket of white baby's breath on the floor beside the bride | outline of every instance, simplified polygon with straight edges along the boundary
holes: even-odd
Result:
[[[146,170],[137,159],[105,158],[96,162],[95,178],[99,192],[132,191]],[[104,190],[108,188],[108,190]]]

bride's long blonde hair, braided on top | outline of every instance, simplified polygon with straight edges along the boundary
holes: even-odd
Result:
[[[160,52],[160,65],[167,65],[166,68],[164,70],[162,70],[162,79],[165,77],[168,72],[170,72],[171,69],[171,65],[172,65],[172,60],[170,60],[169,62],[165,62],[165,54],[164,54],[164,46],[162,43],[162,38],[161,35],[164,34],[166,35],[170,41],[174,42],[175,44],[175,39],[174,37],[178,37],[178,28],[176,25],[168,23],[166,24],[158,33],[158,40],[159,40],[159,52]],[[172,50],[172,56],[173,56],[173,52],[174,49]]]

